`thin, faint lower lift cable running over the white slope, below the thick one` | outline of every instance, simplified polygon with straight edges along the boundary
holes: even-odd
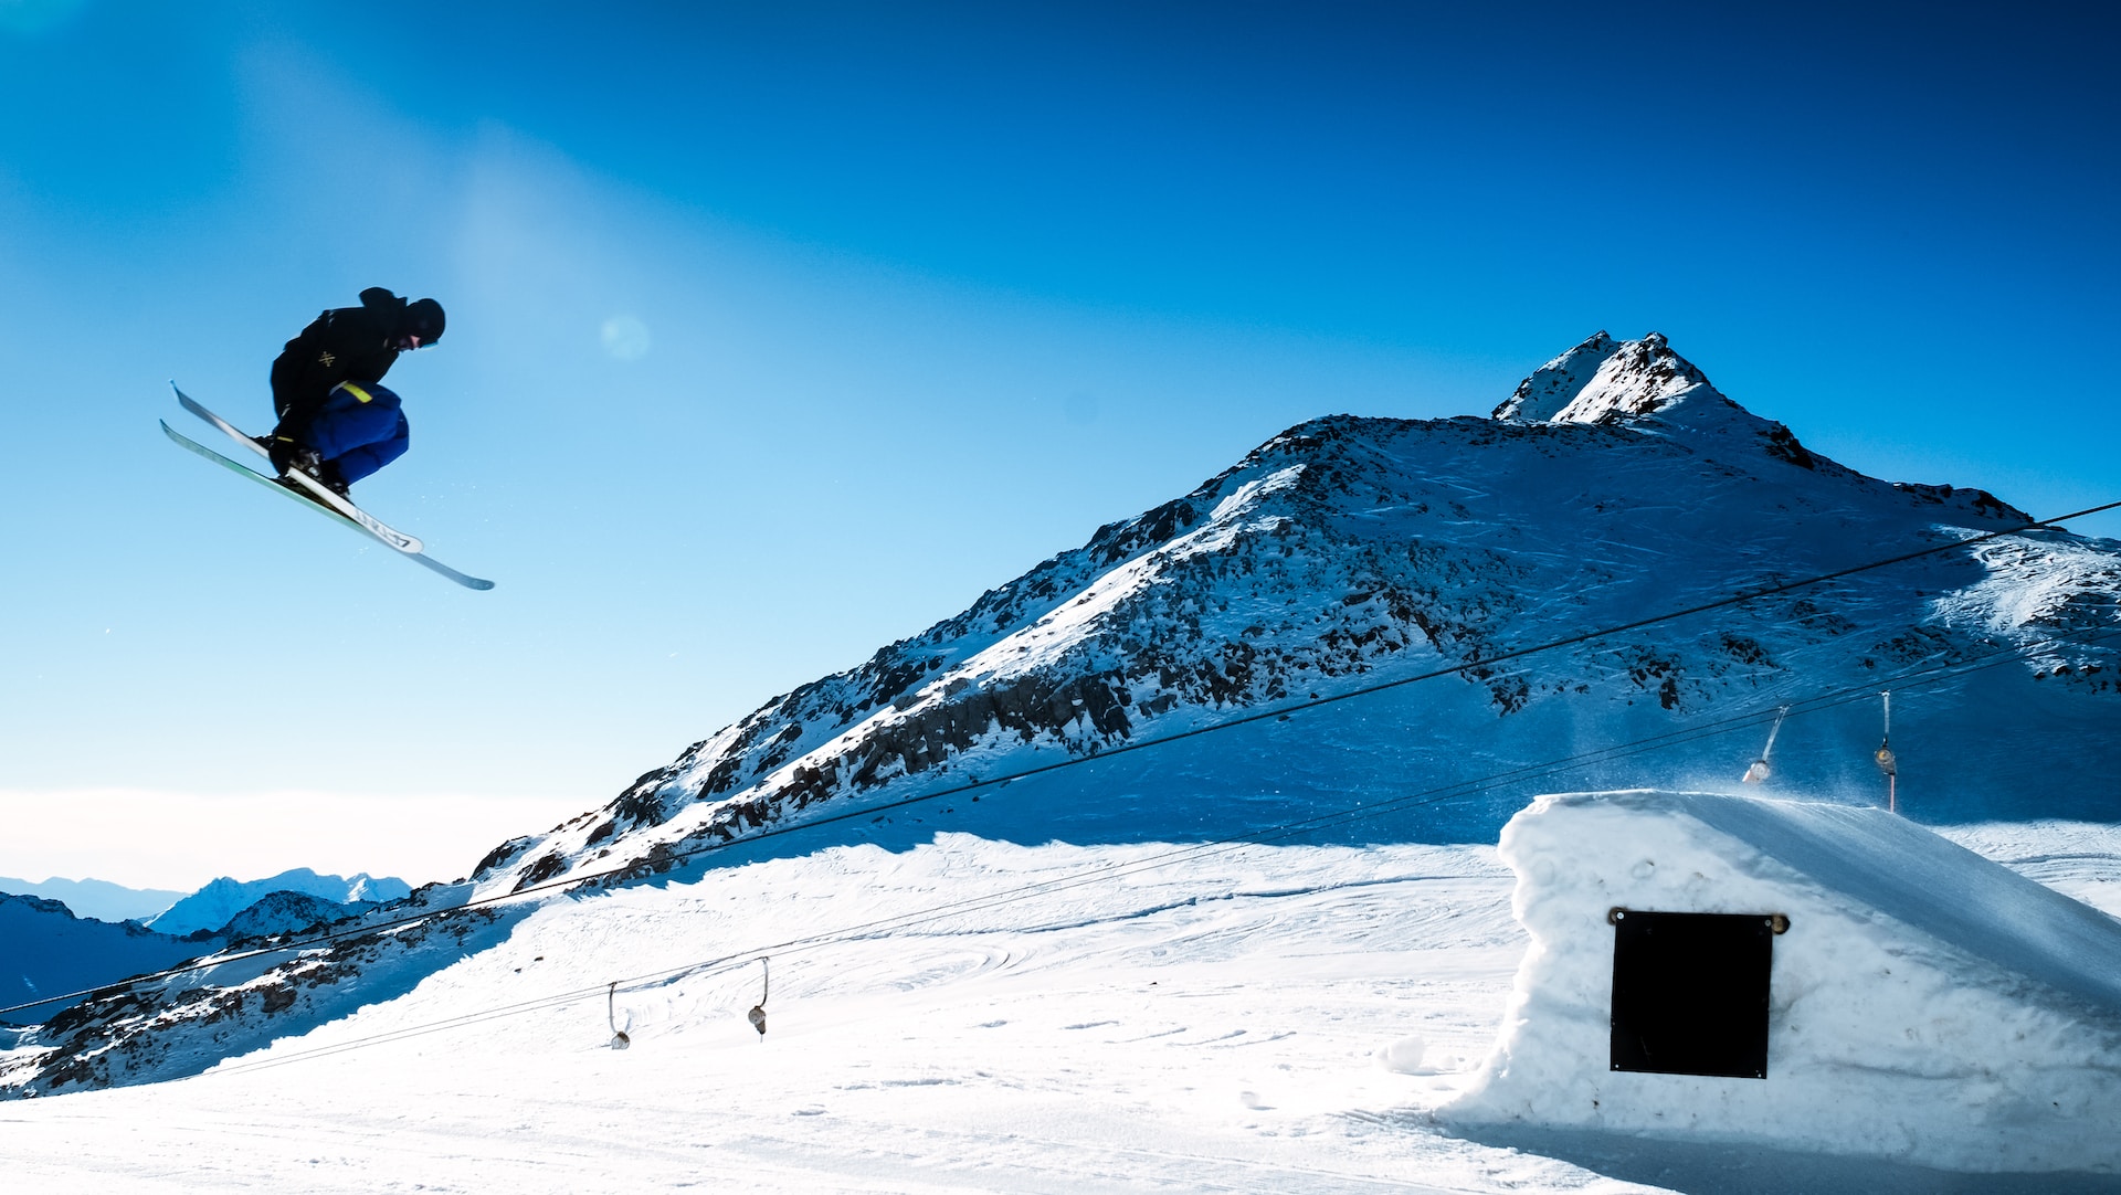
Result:
[[[1900,678],[1894,678],[1894,682],[1898,682],[1903,689],[1911,686],[1911,684],[1934,684],[1939,680],[1949,680],[1949,678],[1964,676],[1964,674],[1970,674],[1970,672],[1979,672],[1979,670],[1985,670],[1985,667],[1998,667],[1998,665],[2011,663],[2015,657],[2023,655],[2028,648],[2034,648],[2034,646],[2053,646],[2055,642],[2079,642],[2081,646],[2089,646],[2089,644],[2106,642],[2106,640],[2115,640],[2115,638],[2121,638],[2121,631],[2104,634],[2104,636],[2087,636],[2083,640],[2047,640],[2043,644],[2021,644],[2017,648],[1992,653],[1994,659],[1987,659],[1987,661],[1979,661],[1979,657],[1977,657],[1977,661],[1970,667],[1962,665],[1962,667],[1953,667],[1953,670],[1943,670],[1939,665],[1926,665],[1924,670],[1917,670],[1913,674],[1905,674]],[[1922,672],[1930,672],[1932,676],[1920,676]],[[1796,712],[1830,710],[1830,708],[1839,708],[1839,706],[1847,706],[1847,703],[1854,703],[1854,701],[1869,699],[1873,693],[1875,691],[1869,684],[1864,684],[1864,686],[1852,686],[1852,689],[1845,689],[1845,691],[1839,691],[1839,693],[1828,693],[1828,695],[1822,695],[1822,697],[1805,699],[1805,701],[1799,701],[1799,703],[1786,703],[1786,706],[1777,708],[1777,712],[1775,712],[1775,725],[1780,725],[1792,710],[1796,710]],[[1799,706],[1803,706],[1803,710],[1799,710]],[[1584,761],[1584,759],[1591,759],[1591,756],[1597,756],[1597,759],[1593,759],[1597,763],[1597,761],[1603,761],[1603,759],[1618,759],[1623,754],[1642,754],[1642,752],[1648,752],[1648,750],[1661,750],[1665,746],[1680,746],[1684,742],[1697,742],[1697,739],[1703,739],[1703,737],[1714,737],[1718,733],[1731,733],[1731,731],[1741,729],[1746,725],[1758,725],[1760,718],[1763,718],[1763,714],[1758,714],[1758,712],[1756,714],[1746,714],[1746,716],[1722,718],[1720,723],[1714,723],[1714,725],[1693,727],[1690,731],[1699,731],[1699,733],[1686,733],[1684,737],[1682,735],[1673,735],[1673,733],[1652,735],[1648,739],[1635,739],[1633,744],[1623,744],[1620,748],[1599,750],[1599,752],[1580,752],[1576,756],[1567,756],[1567,759],[1561,759],[1561,761],[1550,761],[1550,763],[1538,765],[1538,767],[1548,769],[1548,771],[1561,771],[1561,769],[1574,767],[1576,761]],[[1527,771],[1527,769],[1514,769],[1514,771]],[[1504,773],[1504,775],[1508,775],[1508,773]],[[1374,816],[1377,811],[1387,809],[1387,807],[1406,809],[1406,807],[1419,807],[1419,805],[1434,805],[1434,803],[1451,801],[1455,797],[1478,795],[1480,790],[1491,790],[1491,788],[1500,786],[1500,784],[1489,784],[1489,782],[1472,782],[1472,784],[1478,786],[1476,792],[1444,792],[1440,797],[1417,792],[1417,795],[1408,795],[1408,797],[1385,801],[1385,803],[1372,803],[1372,805],[1343,809],[1338,816],[1343,816],[1345,820],[1357,820],[1362,816]],[[1447,786],[1447,788],[1466,788],[1466,786],[1459,784],[1459,786]],[[1442,792],[1442,790],[1430,790],[1430,792]],[[617,979],[617,981],[611,981],[604,987],[604,992],[615,994],[619,987],[624,987],[628,992],[641,992],[641,989],[655,987],[655,985],[668,985],[668,983],[679,981],[679,979],[711,977],[711,975],[732,973],[732,970],[738,970],[742,966],[749,966],[749,962],[753,958],[764,968],[764,966],[768,966],[768,958],[772,953],[812,951],[812,949],[825,949],[825,947],[831,947],[831,945],[844,945],[844,943],[851,943],[851,941],[874,939],[880,932],[904,930],[904,928],[918,926],[923,922],[935,922],[935,920],[950,917],[950,915],[965,915],[965,913],[986,911],[986,909],[1012,905],[1012,903],[1035,898],[1035,896],[1050,896],[1050,894],[1063,892],[1067,888],[1080,888],[1080,886],[1086,886],[1086,884],[1099,884],[1099,881],[1118,879],[1118,877],[1141,873],[1141,871],[1154,871],[1154,869],[1160,869],[1160,867],[1171,867],[1173,862],[1184,862],[1184,860],[1190,860],[1190,858],[1205,858],[1205,856],[1213,856],[1213,854],[1224,854],[1224,852],[1241,850],[1241,848],[1247,848],[1247,845],[1262,845],[1266,841],[1275,841],[1275,839],[1283,839],[1283,837],[1298,837],[1302,833],[1313,833],[1317,828],[1311,822],[1319,822],[1319,820],[1307,820],[1304,824],[1266,828],[1266,831],[1262,831],[1258,835],[1245,837],[1243,841],[1198,843],[1194,848],[1184,848],[1184,850],[1175,850],[1175,852],[1164,852],[1160,856],[1150,856],[1150,858],[1143,858],[1143,860],[1135,860],[1135,862],[1122,864],[1118,869],[1116,867],[1099,867],[1094,871],[1075,873],[1075,875],[1067,875],[1067,877],[1054,877],[1054,879],[1046,879],[1046,881],[1035,881],[1035,884],[1029,884],[1029,886],[1018,886],[1018,888],[1003,890],[1003,892],[991,892],[991,894],[982,894],[982,896],[974,896],[974,898],[965,898],[965,900],[952,900],[952,903],[940,905],[940,907],[916,909],[916,911],[899,913],[899,915],[893,915],[893,917],[876,917],[872,922],[863,922],[863,924],[855,924],[855,926],[840,926],[836,930],[821,930],[817,934],[806,934],[806,937],[800,937],[800,939],[789,939],[789,941],[783,941],[783,943],[774,943],[770,947],[753,947],[753,949],[744,949],[744,951],[723,953],[723,956],[717,956],[713,960],[700,960],[700,962],[683,964],[683,966],[677,966],[677,968],[666,968],[666,970],[658,970],[658,973],[649,973],[649,975],[636,975],[636,977],[630,977],[630,979]],[[770,975],[761,975],[761,979],[768,981],[768,989],[761,992],[759,1004],[755,1006],[755,1011],[759,1011],[759,1013],[764,1013],[766,992],[770,992]],[[481,1021],[488,1021],[488,1019],[511,1017],[511,1015],[526,1015],[526,1013],[545,1011],[545,1009],[558,1009],[558,1006],[564,1006],[568,1002],[579,1002],[583,998],[590,998],[596,992],[598,992],[598,987],[581,987],[581,989],[573,989],[573,992],[558,992],[558,994],[551,994],[551,996],[543,996],[543,998],[537,998],[537,1000],[526,1000],[526,1002],[520,1002],[520,1004],[507,1004],[507,1006],[492,1009],[492,1011],[475,1011],[475,1013],[464,1013],[464,1015],[450,1017],[450,1019],[443,1019],[443,1021],[431,1021],[426,1025],[411,1025],[411,1028],[405,1028],[405,1030],[392,1030],[392,1032],[386,1032],[386,1034],[373,1034],[371,1038],[358,1038],[354,1042],[333,1042],[329,1047],[318,1047],[314,1051],[303,1051],[299,1055],[288,1055],[288,1057],[278,1057],[278,1059],[259,1059],[255,1064],[218,1066],[218,1068],[214,1068],[210,1072],[204,1072],[204,1074],[233,1074],[233,1072],[244,1072],[244,1070],[261,1070],[261,1068],[269,1068],[269,1066],[286,1066],[286,1064],[293,1064],[293,1062],[308,1062],[308,1059],[314,1059],[314,1057],[327,1057],[327,1055],[335,1055],[335,1053],[346,1053],[350,1049],[363,1049],[367,1045],[388,1045],[388,1042],[395,1042],[395,1040],[405,1040],[409,1036],[422,1036],[422,1034],[428,1034],[428,1032],[445,1032],[445,1030],[454,1030],[454,1028],[467,1028],[467,1025],[481,1023]],[[755,1025],[757,1025],[757,1021],[755,1021]],[[764,1028],[759,1032],[764,1034]]]

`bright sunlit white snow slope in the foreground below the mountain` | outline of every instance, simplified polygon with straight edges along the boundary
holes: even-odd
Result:
[[[2121,909],[2121,828],[1953,837]],[[409,994],[204,1076],[6,1104],[0,1157],[19,1191],[2117,1187],[1455,1138],[1430,1112],[1497,1038],[1527,945],[1510,892],[1478,845],[834,848],[549,900]],[[755,947],[812,934],[766,951],[761,1040]],[[632,1045],[607,1045],[607,983],[715,958],[621,983]]]

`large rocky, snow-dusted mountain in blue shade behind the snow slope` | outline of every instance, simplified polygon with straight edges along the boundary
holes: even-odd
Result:
[[[1830,350],[1792,352],[1833,369]],[[1665,337],[1599,333],[1487,417],[1290,428],[607,805],[501,843],[471,884],[371,915],[940,831],[1493,841],[1557,790],[1883,803],[1881,691],[1905,814],[2121,822],[2121,542],[2028,521],[1983,489],[1864,477]],[[918,547],[950,551],[948,528]],[[1822,574],[1839,576],[1773,591]],[[1726,602],[1743,593],[1760,595]],[[1741,786],[1771,725],[1771,775]],[[528,909],[87,1002],[23,1036],[0,1095],[197,1072],[403,992]]]

